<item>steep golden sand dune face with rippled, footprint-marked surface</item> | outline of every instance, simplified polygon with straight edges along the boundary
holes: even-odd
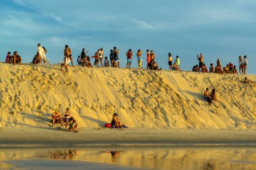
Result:
[[[256,128],[255,87],[241,83],[243,75],[6,64],[0,71],[2,127],[50,127],[53,110],[70,107],[81,127],[104,126],[118,112],[129,127]],[[205,87],[218,91],[213,106]]]

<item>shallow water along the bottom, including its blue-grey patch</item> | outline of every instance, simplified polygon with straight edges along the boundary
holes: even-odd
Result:
[[[256,148],[9,148],[0,158],[0,169],[255,169]]]

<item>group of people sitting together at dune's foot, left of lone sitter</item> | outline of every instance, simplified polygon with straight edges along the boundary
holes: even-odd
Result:
[[[63,112],[63,114],[61,115],[59,112],[59,109],[56,109],[55,112],[53,113],[53,127],[55,127],[55,124],[61,124],[61,126],[63,126],[63,122],[65,122],[65,129],[68,128],[68,130],[73,130],[74,132],[78,132],[78,124],[76,122],[76,120],[73,118],[72,114],[69,112],[70,109],[67,108],[67,110],[65,112]],[[62,120],[62,116],[64,116],[64,120]]]

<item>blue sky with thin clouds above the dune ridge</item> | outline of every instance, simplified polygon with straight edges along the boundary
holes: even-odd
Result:
[[[117,46],[121,66],[131,48],[156,53],[160,67],[168,69],[168,52],[179,55],[181,69],[197,64],[203,53],[205,63],[222,65],[247,54],[249,73],[256,73],[256,1],[254,0],[1,0],[1,60],[8,51],[18,50],[30,62],[40,42],[51,63],[63,58],[69,44],[73,56],[82,48],[90,56],[103,47],[105,55]],[[132,67],[137,68],[133,58]]]

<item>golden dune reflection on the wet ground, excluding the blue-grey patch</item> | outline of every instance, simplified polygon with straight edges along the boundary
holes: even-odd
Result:
[[[162,170],[255,169],[256,148],[33,148],[0,150],[0,159],[63,159]]]

